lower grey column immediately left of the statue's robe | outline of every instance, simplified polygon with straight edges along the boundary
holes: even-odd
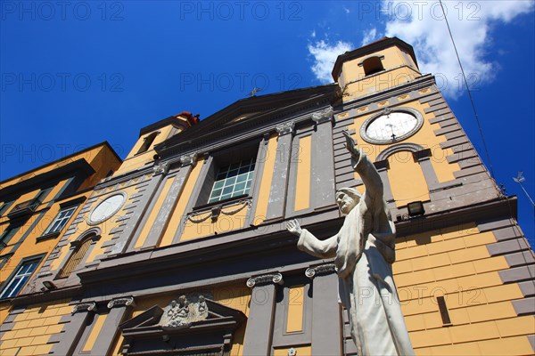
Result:
[[[338,276],[334,263],[310,267],[305,275],[312,282],[312,355],[342,354],[342,322],[338,303]]]

